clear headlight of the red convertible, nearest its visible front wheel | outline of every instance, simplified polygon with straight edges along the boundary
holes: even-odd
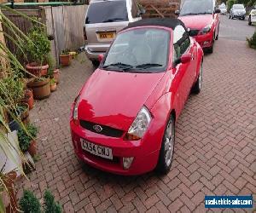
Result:
[[[151,119],[152,116],[148,111],[148,108],[143,107],[140,112],[138,112],[137,117],[131,124],[131,127],[126,134],[125,139],[129,141],[137,141],[143,138],[146,130],[148,130]]]

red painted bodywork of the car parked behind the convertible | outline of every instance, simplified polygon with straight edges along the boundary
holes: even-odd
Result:
[[[186,27],[191,30],[201,31],[206,26],[211,26],[211,31],[204,35],[196,35],[195,40],[201,45],[201,48],[209,48],[212,46],[213,37],[218,35],[219,14],[202,14],[202,15],[184,15],[179,16]]]

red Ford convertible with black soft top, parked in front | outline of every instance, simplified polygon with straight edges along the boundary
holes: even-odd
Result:
[[[177,118],[201,90],[201,46],[181,20],[148,19],[119,32],[99,58],[73,103],[75,153],[119,175],[168,172]]]

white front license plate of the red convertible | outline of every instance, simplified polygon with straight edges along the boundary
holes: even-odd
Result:
[[[113,159],[112,149],[108,147],[102,147],[91,143],[89,141],[85,141],[81,139],[82,149],[87,151],[88,153],[94,154],[96,156],[100,156],[102,158]]]

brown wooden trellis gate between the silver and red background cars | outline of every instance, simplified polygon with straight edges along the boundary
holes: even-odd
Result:
[[[173,18],[175,10],[179,9],[180,0],[139,0],[146,14],[143,18]]]

